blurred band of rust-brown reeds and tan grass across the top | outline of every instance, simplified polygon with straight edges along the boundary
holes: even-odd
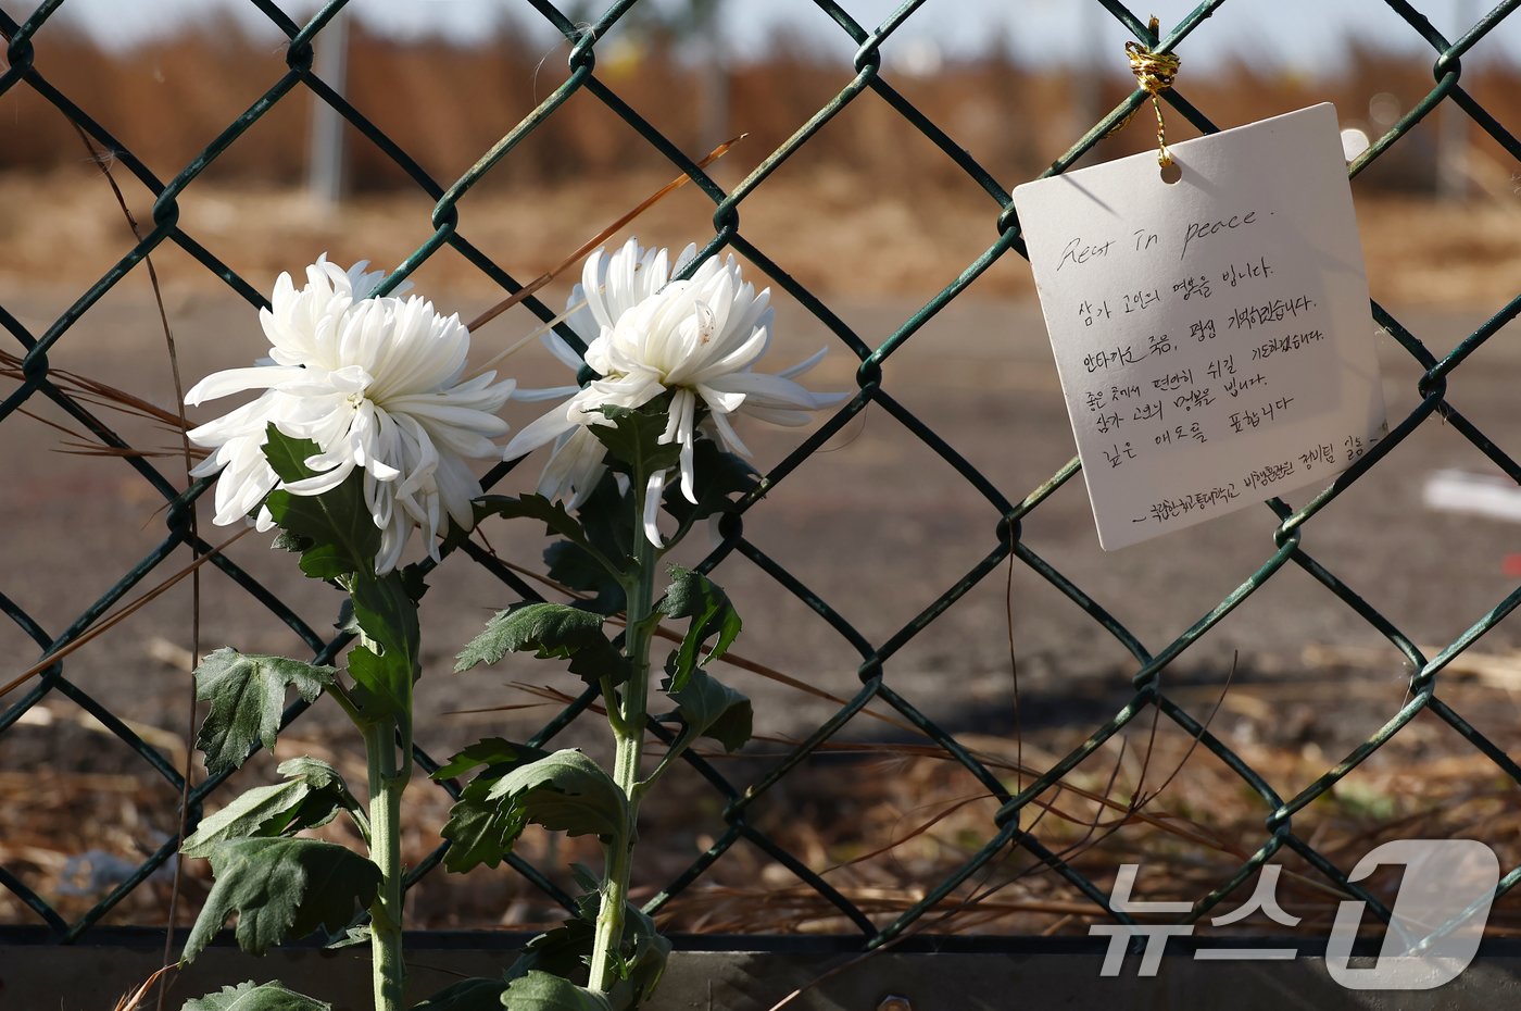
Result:
[[[277,41],[210,11],[131,47],[103,46],[99,32],[65,20],[37,40],[35,65],[167,180],[286,69]],[[1232,14],[1226,8],[1217,18]],[[849,59],[826,44],[832,35],[829,24],[786,21],[715,72],[706,37],[681,18],[634,18],[599,47],[598,75],[694,155],[744,134],[713,167],[721,184],[733,184],[850,81]],[[1007,33],[952,53],[934,38],[891,40],[884,52],[890,79],[1007,189],[1037,175],[1133,87],[1118,46],[1092,53],[1094,62],[1042,65],[1016,56]],[[1331,44],[1335,59],[1310,67],[1282,52],[1278,59],[1247,52],[1194,70],[1185,49],[1180,79],[1189,100],[1221,126],[1334,102],[1345,128],[1357,131],[1349,143],[1361,134],[1366,145],[1431,87],[1430,61],[1380,41],[1390,38],[1398,37],[1345,35]],[[348,40],[347,94],[447,186],[563,79],[566,55],[511,14],[470,44],[377,35],[359,21]],[[1465,88],[1500,122],[1521,119],[1521,52],[1497,40],[1469,61]],[[388,262],[432,231],[432,203],[351,128],[344,184],[353,199],[341,215],[313,213],[310,116],[304,97],[278,104],[179,201],[181,224],[257,283],[289,269],[292,248]],[[1363,245],[1381,301],[1484,305],[1510,294],[1521,276],[1521,178],[1513,158],[1465,119],[1439,108],[1358,178]],[[93,166],[79,136],[27,88],[0,99],[0,126],[8,209],[0,279],[99,277],[123,225],[110,190],[84,181]],[[1197,131],[1173,116],[1170,136]],[[1150,143],[1150,129],[1136,126],[1080,164]],[[601,102],[578,94],[467,195],[461,231],[531,277],[669,178],[659,152]],[[138,219],[151,221],[146,190],[126,190]],[[742,224],[809,288],[926,298],[996,238],[998,210],[896,111],[856,102],[745,203]],[[709,201],[687,187],[639,231],[684,242],[710,228],[710,216]],[[199,269],[167,251],[158,268],[167,282]],[[420,280],[475,291],[488,283],[449,256],[430,262]],[[973,294],[1025,297],[1028,273],[1001,266]]]

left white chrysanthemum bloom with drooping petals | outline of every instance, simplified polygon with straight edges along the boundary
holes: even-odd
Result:
[[[376,572],[385,574],[400,562],[414,527],[421,527],[433,559],[449,524],[472,528],[470,501],[481,483],[465,460],[497,455],[491,440],[508,426],[496,413],[516,384],[493,384],[496,373],[459,382],[470,350],[459,317],[444,318],[415,295],[370,298],[385,274],[367,274],[365,266],[344,271],[318,257],[300,291],[281,274],[274,308],[259,314],[269,358],[207,376],[186,402],[263,390],[190,431],[193,442],[216,449],[192,474],[222,470],[218,524],[259,509],[257,527],[269,530],[274,519],[260,502],[271,490],[321,495],[362,467],[365,506],[382,531]],[[315,477],[280,481],[263,454],[271,423],[321,448],[306,460]]]

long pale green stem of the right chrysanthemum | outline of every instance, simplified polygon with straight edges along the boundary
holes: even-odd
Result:
[[[608,723],[613,728],[616,757],[613,781],[628,798],[628,822],[624,831],[607,845],[607,866],[602,871],[602,904],[596,914],[596,932],[592,939],[592,990],[608,993],[616,982],[613,955],[619,952],[624,938],[624,911],[628,906],[628,866],[633,854],[636,825],[639,824],[639,758],[645,743],[645,720],[649,702],[649,638],[654,623],[649,620],[654,606],[656,566],[659,548],[643,534],[643,480],[634,480],[634,577],[628,589],[628,626],[624,652],[628,656],[628,682],[624,685],[622,705],[613,696],[607,697]],[[605,690],[604,690],[605,691]],[[611,714],[618,711],[618,719]]]

